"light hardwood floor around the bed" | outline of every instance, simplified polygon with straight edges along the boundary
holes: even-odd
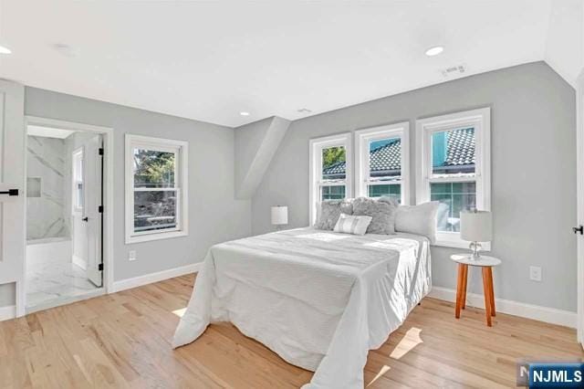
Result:
[[[193,276],[0,322],[0,388],[299,387],[311,374],[285,363],[231,324],[211,325],[176,351],[172,334]],[[379,350],[371,388],[512,387],[517,358],[582,358],[575,331],[424,299]]]

